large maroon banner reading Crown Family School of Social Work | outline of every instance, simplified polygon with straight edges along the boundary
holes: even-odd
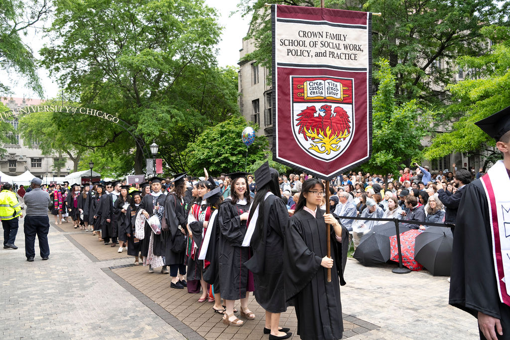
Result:
[[[273,160],[333,178],[371,155],[371,14],[271,8]]]

